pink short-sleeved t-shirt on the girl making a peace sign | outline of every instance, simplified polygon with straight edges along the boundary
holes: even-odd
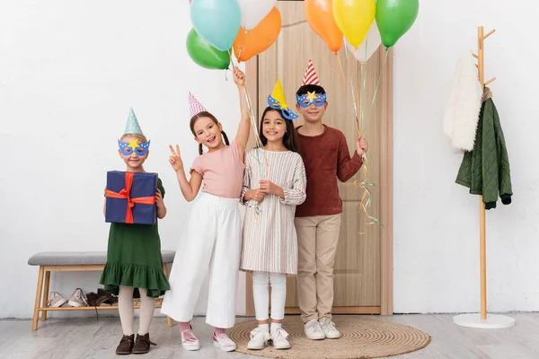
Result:
[[[191,171],[202,175],[202,191],[223,198],[239,198],[243,188],[243,170],[235,141],[222,150],[197,157]]]

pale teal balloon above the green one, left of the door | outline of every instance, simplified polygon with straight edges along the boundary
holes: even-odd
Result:
[[[193,28],[214,48],[232,48],[241,26],[237,0],[193,0],[190,4]]]

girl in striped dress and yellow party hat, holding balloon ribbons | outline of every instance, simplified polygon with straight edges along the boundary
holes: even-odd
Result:
[[[305,201],[305,166],[297,153],[294,122],[280,82],[262,113],[263,148],[247,152],[242,202],[247,203],[243,224],[241,269],[252,271],[254,310],[258,328],[247,348],[263,349],[271,339],[275,349],[288,349],[285,317],[287,275],[297,273],[296,206]],[[261,165],[262,164],[262,165]],[[267,173],[265,167],[267,166]],[[271,331],[268,306],[271,284]]]

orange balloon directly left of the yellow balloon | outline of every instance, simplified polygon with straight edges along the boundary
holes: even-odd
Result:
[[[304,3],[305,19],[337,55],[342,47],[342,32],[333,19],[332,0],[305,0]]]

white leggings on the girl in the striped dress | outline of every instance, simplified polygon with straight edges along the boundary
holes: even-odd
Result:
[[[285,318],[285,301],[287,300],[287,275],[282,273],[254,272],[252,274],[252,296],[256,320],[268,320],[271,284],[271,319]]]

